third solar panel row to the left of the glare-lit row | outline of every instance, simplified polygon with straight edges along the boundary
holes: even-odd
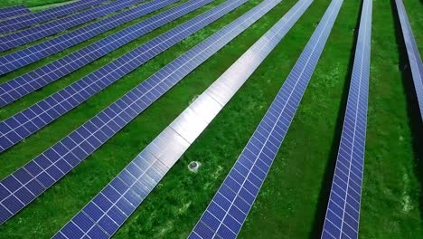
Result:
[[[165,5],[169,5],[169,3],[173,1],[175,0],[163,1],[160,5],[155,5],[153,8],[159,9]],[[145,21],[127,27],[118,33],[109,35],[108,37],[99,40],[96,43],[92,43],[77,52],[62,57],[55,62],[48,63],[33,72],[29,72],[11,81],[0,84],[0,107],[17,100],[30,92],[42,88],[52,81],[57,81],[61,77],[80,69],[80,67],[88,64],[89,62],[99,59],[107,53],[118,49],[118,47],[125,45],[126,43],[130,43],[146,33],[150,33],[158,27],[168,24],[184,14],[188,14],[196,10],[202,5],[211,3],[211,1],[212,0],[191,0],[183,5],[178,5],[172,9],[164,11],[161,14],[152,16]],[[147,11],[153,11],[153,8],[150,8]],[[156,45],[157,43],[151,42],[150,44]],[[150,46],[146,44],[144,44],[143,47],[144,50],[150,48]]]

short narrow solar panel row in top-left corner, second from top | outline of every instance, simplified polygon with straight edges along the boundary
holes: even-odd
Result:
[[[40,24],[42,22],[50,21],[63,15],[73,14],[91,6],[99,5],[105,1],[107,0],[78,1],[69,5],[54,7],[52,9],[44,10],[38,13],[26,14],[5,21],[0,21],[0,34],[19,30],[33,24]]]

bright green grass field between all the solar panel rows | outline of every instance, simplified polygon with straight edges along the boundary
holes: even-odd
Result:
[[[63,1],[9,0],[1,1],[0,7],[15,4],[35,6],[53,2]],[[166,24],[60,81],[0,109],[0,120],[13,116],[141,43],[222,2],[224,0],[216,0]],[[23,166],[166,63],[260,2],[250,0],[161,53],[32,137],[0,154],[0,178]],[[361,2],[344,0],[287,138],[241,230],[240,238],[320,237],[343,126]],[[52,186],[5,225],[1,225],[0,238],[51,237],[295,3],[296,0],[283,0],[190,73],[61,179],[61,182]],[[115,234],[116,238],[185,238],[191,232],[287,78],[329,3],[330,0],[315,0],[267,60]],[[404,4],[420,55],[423,55],[423,2],[404,0]],[[156,13],[0,76],[0,82],[33,71]],[[42,40],[36,43],[40,42]],[[408,58],[395,2],[373,0],[370,98],[360,238],[421,238],[423,235],[423,125],[407,65]],[[193,160],[202,163],[198,173],[192,173],[187,168]]]

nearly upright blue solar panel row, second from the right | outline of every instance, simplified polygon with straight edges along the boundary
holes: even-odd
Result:
[[[358,238],[371,53],[371,0],[364,0],[343,133],[322,238]]]

